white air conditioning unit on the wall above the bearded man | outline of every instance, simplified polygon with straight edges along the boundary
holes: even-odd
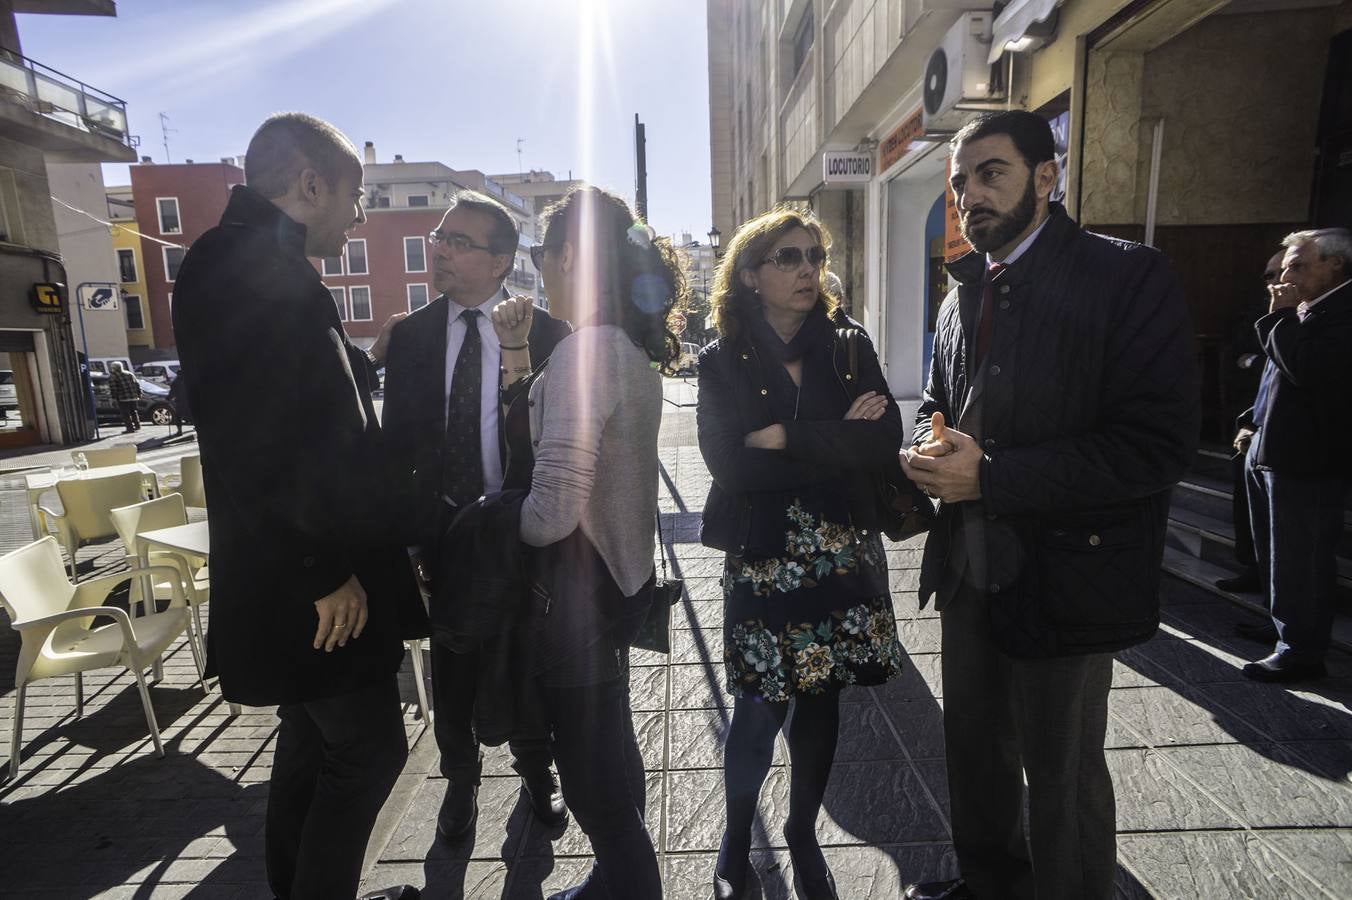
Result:
[[[991,14],[964,12],[925,65],[925,134],[953,134],[973,111],[1002,108],[1005,86],[986,62]]]

